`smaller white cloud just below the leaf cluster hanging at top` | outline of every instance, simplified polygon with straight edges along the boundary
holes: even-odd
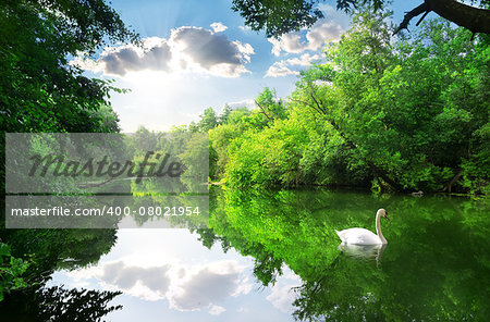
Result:
[[[282,52],[316,51],[324,44],[338,41],[348,25],[347,16],[330,5],[322,4],[320,9],[323,11],[324,17],[317,21],[309,30],[285,34],[280,39],[269,38],[269,42],[272,44],[272,53],[279,57]]]

